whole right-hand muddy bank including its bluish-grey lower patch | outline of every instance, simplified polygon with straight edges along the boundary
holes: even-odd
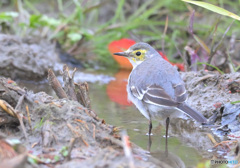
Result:
[[[182,73],[189,93],[188,104],[210,118],[219,136],[240,133],[240,73]]]

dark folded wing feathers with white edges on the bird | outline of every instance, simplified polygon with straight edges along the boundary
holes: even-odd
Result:
[[[179,103],[183,103],[187,99],[187,91],[184,84],[175,84],[172,86],[174,89],[174,98],[168,95],[166,91],[158,85],[151,85],[145,89],[139,89],[132,86],[132,94],[139,100],[143,100],[146,103],[154,105],[164,106],[178,106]]]

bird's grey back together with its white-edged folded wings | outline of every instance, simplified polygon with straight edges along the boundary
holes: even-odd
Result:
[[[154,105],[177,106],[187,99],[178,71],[161,57],[138,65],[131,72],[129,86],[134,97]]]

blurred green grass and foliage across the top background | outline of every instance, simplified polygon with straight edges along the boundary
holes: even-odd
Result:
[[[209,3],[239,13],[240,0]],[[186,46],[194,51],[202,45],[218,47],[224,33],[224,45],[218,49],[229,51],[229,41],[234,35],[237,43],[240,34],[239,21],[226,31],[232,18],[180,0],[2,0],[0,9],[2,33],[57,41],[85,67],[116,66],[107,46],[123,37],[148,42],[176,62],[188,51]],[[201,53],[204,62],[209,53]],[[231,54],[239,57],[238,51]]]

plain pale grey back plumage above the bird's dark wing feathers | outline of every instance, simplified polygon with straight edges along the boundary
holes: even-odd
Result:
[[[162,88],[163,91],[167,91],[166,94],[173,100],[177,99],[178,94],[182,94],[181,90],[185,91],[184,82],[176,68],[165,61],[159,54],[146,59],[131,72],[129,85],[143,90],[153,86],[159,87],[159,89]],[[177,86],[177,88],[175,89],[174,86]],[[177,95],[175,96],[175,94]],[[182,101],[185,100],[186,96],[183,97]]]

